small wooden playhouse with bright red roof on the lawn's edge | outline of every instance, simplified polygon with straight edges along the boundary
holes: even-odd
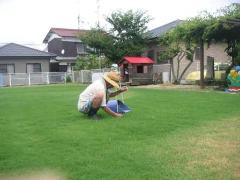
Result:
[[[118,62],[123,82],[130,85],[152,84],[153,64],[148,57],[124,57]]]

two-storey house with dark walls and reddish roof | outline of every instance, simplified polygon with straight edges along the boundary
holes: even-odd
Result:
[[[80,36],[88,30],[51,28],[43,40],[47,43],[47,51],[57,55],[51,61],[51,72],[71,72],[78,56],[87,54],[87,46]]]

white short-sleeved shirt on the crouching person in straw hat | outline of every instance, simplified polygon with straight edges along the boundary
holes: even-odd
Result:
[[[92,101],[92,99],[96,96],[97,93],[102,92],[104,94],[102,100],[102,107],[106,106],[106,83],[103,78],[94,81],[90,84],[80,95],[78,99],[78,110],[82,108],[82,106],[88,101]]]

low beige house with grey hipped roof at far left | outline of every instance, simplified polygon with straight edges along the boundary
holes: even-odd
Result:
[[[0,47],[0,73],[49,72],[50,60],[55,57],[53,53],[9,43]]]

